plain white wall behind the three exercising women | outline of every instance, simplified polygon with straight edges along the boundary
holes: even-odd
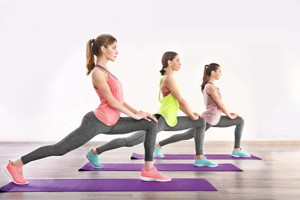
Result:
[[[85,44],[102,33],[118,40],[108,68],[134,108],[158,109],[160,59],[171,50],[193,111],[205,109],[202,70],[216,62],[223,102],[245,119],[243,140],[300,139],[299,8],[297,0],[1,0],[0,141],[60,140],[98,106]],[[205,140],[233,141],[233,130],[211,128]]]

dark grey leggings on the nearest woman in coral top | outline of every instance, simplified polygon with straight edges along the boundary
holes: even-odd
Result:
[[[92,139],[97,134],[126,134],[137,130],[144,130],[145,138],[145,161],[153,160],[153,151],[157,133],[157,123],[154,121],[147,121],[144,119],[135,120],[131,117],[120,117],[115,125],[109,126],[102,123],[92,111],[86,113],[78,128],[73,130],[61,141],[53,145],[39,147],[32,152],[21,157],[24,164],[41,159],[48,156],[59,156],[74,150],[87,141]],[[98,154],[101,152],[97,147]]]

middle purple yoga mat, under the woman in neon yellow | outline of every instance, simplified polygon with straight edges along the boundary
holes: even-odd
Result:
[[[143,163],[101,163],[104,168],[94,168],[86,162],[78,171],[141,171]],[[166,164],[155,163],[158,171],[243,171],[234,164],[218,164],[217,167],[195,167],[192,163],[188,164]]]

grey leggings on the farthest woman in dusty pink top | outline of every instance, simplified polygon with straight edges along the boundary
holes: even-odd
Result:
[[[210,127],[229,127],[232,125],[236,125],[235,130],[234,130],[234,148],[239,148],[240,147],[240,138],[241,138],[241,133],[242,129],[244,126],[244,120],[242,118],[235,118],[235,119],[230,119],[227,116],[222,115],[218,124],[216,125],[211,125],[209,123],[206,123],[206,128],[205,131],[210,128]],[[177,141],[181,140],[186,140],[186,139],[191,139],[193,137],[193,130],[189,129],[186,132],[183,132],[181,134],[174,134],[162,141],[159,141],[159,145],[163,146],[169,143],[174,143]]]

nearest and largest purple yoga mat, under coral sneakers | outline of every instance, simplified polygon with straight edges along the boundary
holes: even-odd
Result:
[[[29,179],[29,184],[12,182],[0,191],[217,191],[205,178],[174,178],[170,182],[140,179]]]

